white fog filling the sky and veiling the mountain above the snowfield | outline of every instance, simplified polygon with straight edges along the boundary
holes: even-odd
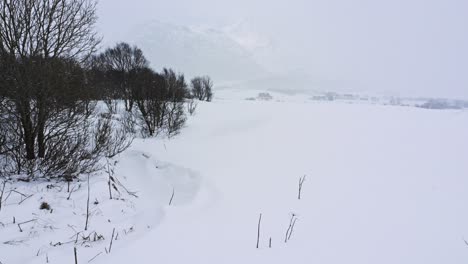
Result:
[[[98,26],[104,47],[133,42],[155,68],[218,84],[466,99],[466,10],[461,0],[102,0]]]

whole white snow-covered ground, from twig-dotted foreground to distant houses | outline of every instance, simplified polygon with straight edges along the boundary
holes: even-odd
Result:
[[[179,136],[116,158],[138,198],[91,176],[87,231],[85,178],[69,200],[66,184],[8,184],[0,263],[73,263],[80,231],[79,263],[468,262],[467,111],[250,96],[218,91]]]

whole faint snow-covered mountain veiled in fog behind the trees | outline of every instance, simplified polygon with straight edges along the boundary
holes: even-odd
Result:
[[[252,21],[217,29],[151,21],[133,27],[121,40],[140,47],[154,69],[174,68],[188,78],[209,75],[217,89],[355,89],[349,83],[323,81],[310,69],[286,63],[274,39]]]

